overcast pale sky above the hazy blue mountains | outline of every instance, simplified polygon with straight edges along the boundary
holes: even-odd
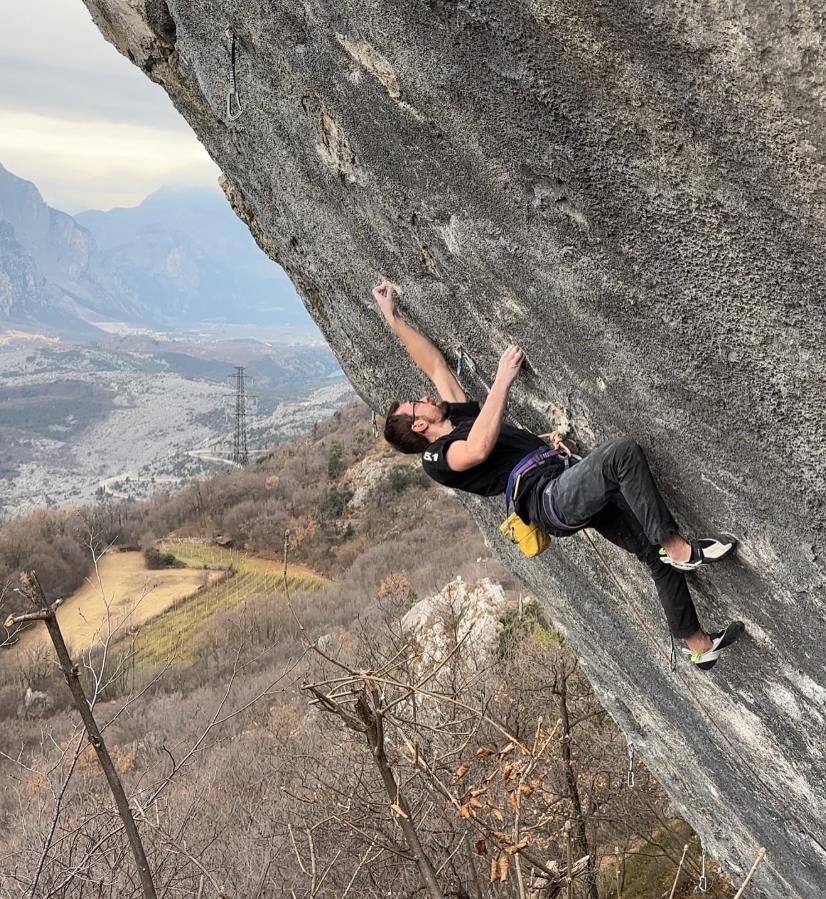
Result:
[[[134,206],[217,166],[81,0],[0,0],[0,163],[66,212]]]

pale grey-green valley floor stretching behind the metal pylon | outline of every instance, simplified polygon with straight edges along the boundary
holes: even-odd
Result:
[[[231,466],[230,383],[209,369],[188,374],[192,357],[176,357],[176,370],[161,355],[0,345],[0,516],[142,499]],[[299,436],[352,397],[343,377],[320,378],[310,368],[290,378],[280,388],[254,388],[252,456]]]

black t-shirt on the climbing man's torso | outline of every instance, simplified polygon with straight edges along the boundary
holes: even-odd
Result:
[[[547,444],[530,431],[503,424],[493,451],[484,462],[466,471],[453,471],[447,464],[448,447],[455,440],[467,440],[478,414],[479,403],[450,403],[447,417],[453,430],[428,446],[422,454],[422,466],[434,481],[445,487],[496,496],[505,492],[508,475],[519,460]]]

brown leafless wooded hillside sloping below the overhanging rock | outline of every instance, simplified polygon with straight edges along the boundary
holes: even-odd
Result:
[[[570,648],[363,406],[176,495],[7,523],[2,617],[21,568],[52,601],[138,545],[153,566],[223,560],[215,585],[73,648],[159,895],[547,899],[569,860],[578,897],[693,890],[696,837]],[[316,580],[238,601],[285,554]],[[23,642],[0,650],[0,896],[140,896],[52,651]]]

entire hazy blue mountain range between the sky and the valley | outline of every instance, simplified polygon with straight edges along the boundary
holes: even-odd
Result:
[[[308,325],[279,266],[217,189],[162,189],[72,217],[0,165],[0,321],[60,333],[94,323]]]

